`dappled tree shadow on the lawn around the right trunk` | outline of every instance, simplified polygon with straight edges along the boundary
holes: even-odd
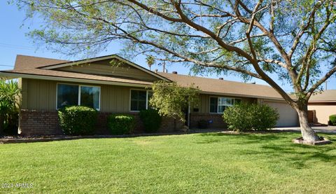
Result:
[[[322,133],[319,135],[331,141],[336,141],[336,136]],[[216,142],[237,144],[237,151],[235,150],[237,154],[249,155],[257,160],[262,158],[262,160],[274,162],[275,164],[281,162],[282,165],[295,169],[309,167],[311,162],[325,162],[327,165],[336,165],[335,143],[324,146],[293,144],[291,140],[300,137],[300,132],[260,134],[206,133],[200,134],[200,136],[207,138],[201,142],[197,142],[197,144],[211,144]],[[241,145],[245,144],[246,147],[241,147]]]

